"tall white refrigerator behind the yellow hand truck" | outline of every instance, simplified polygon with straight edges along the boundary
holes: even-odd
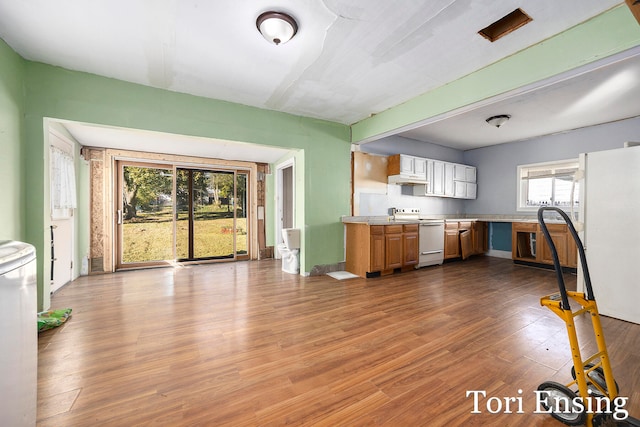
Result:
[[[640,324],[640,147],[580,155],[579,231],[598,311]],[[584,289],[582,271],[578,287]]]

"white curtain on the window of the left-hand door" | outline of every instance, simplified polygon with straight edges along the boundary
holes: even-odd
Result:
[[[51,146],[51,212],[76,207],[76,175],[73,157]]]

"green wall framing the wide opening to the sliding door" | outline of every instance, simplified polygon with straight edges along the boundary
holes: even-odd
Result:
[[[304,184],[297,196],[303,202],[296,219],[304,231],[301,270],[343,261],[340,216],[349,214],[350,201],[348,126],[33,62],[25,64],[25,99],[24,144],[30,154],[25,162],[25,186],[30,189],[24,210],[26,240],[36,246],[41,259],[50,256],[43,120],[55,118],[300,149],[296,172]],[[272,224],[268,218],[267,227]],[[49,265],[40,261],[38,268],[42,282]],[[48,284],[39,286],[40,304],[46,307]]]

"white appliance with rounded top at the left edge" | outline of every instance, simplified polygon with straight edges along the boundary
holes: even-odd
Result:
[[[36,252],[0,241],[0,425],[36,425],[38,323]]]

